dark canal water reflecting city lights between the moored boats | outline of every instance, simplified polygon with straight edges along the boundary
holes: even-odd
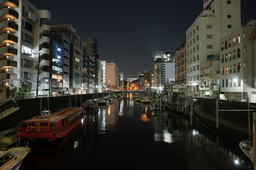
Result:
[[[168,168],[252,170],[252,161],[228,135],[217,136],[194,118],[135,103],[132,94],[87,111],[83,128],[55,142],[29,142],[20,170]]]

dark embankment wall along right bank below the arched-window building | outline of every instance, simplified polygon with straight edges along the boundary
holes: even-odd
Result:
[[[238,101],[227,101],[218,100],[218,110],[230,110],[230,111],[219,111],[219,125],[220,128],[226,127],[235,132],[249,134],[249,121],[248,111],[231,111],[231,110],[248,110],[248,103]],[[256,106],[256,103],[249,103],[250,105]],[[195,104],[195,111],[197,116],[207,119],[216,123],[216,99],[210,98],[198,98]],[[252,135],[252,111],[249,114],[250,118],[250,129]],[[215,124],[216,125],[216,124]],[[216,127],[216,126],[215,126]],[[230,132],[231,132],[230,131]]]

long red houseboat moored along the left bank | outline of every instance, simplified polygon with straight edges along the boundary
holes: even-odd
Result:
[[[45,110],[39,116],[20,122],[17,135],[20,139],[54,141],[82,125],[84,114],[83,107],[67,107],[53,114]]]

